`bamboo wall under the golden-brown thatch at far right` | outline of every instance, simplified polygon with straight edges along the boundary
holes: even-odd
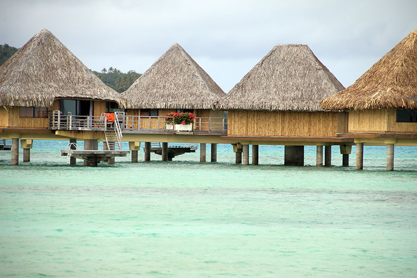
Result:
[[[350,133],[417,133],[417,123],[397,122],[397,110],[349,110]]]

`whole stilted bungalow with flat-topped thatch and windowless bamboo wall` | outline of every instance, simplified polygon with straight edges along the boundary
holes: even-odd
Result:
[[[304,145],[317,145],[317,165],[330,165],[331,145],[342,145],[344,165],[350,153],[349,140],[337,138],[347,131],[347,113],[325,111],[321,100],[344,89],[307,45],[278,44],[237,83],[218,109],[228,111],[229,139],[243,145],[248,164],[248,145],[257,164],[258,144],[285,145],[285,165],[304,164]],[[236,162],[240,161],[235,147]],[[246,154],[245,154],[246,152]]]

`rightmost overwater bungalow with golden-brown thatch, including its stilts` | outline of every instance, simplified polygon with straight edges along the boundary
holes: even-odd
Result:
[[[348,111],[348,132],[338,136],[354,138],[356,169],[365,144],[386,145],[386,169],[393,170],[394,145],[417,146],[417,30],[320,107]]]

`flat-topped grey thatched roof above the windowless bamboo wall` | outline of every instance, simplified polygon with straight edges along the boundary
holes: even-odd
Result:
[[[216,106],[227,110],[322,111],[344,89],[305,44],[277,44]]]

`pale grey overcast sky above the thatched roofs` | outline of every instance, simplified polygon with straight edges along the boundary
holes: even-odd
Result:
[[[274,45],[304,43],[347,87],[417,29],[417,1],[0,0],[0,44],[43,28],[97,71],[143,73],[179,43],[225,92]]]

